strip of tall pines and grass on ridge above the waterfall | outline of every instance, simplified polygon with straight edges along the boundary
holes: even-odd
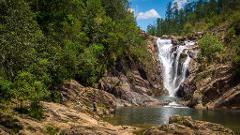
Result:
[[[158,18],[156,25],[149,25],[147,31],[157,36],[203,32],[231,17],[239,7],[240,2],[234,0],[197,0],[182,9],[176,2],[170,2],[165,19]]]

